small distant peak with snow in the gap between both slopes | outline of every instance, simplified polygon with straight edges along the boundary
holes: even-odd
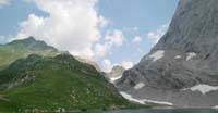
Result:
[[[125,71],[124,67],[120,66],[120,65],[116,65],[112,67],[111,72],[106,74],[106,76],[112,81],[114,83],[116,80],[118,80],[119,78],[122,77],[122,73]]]

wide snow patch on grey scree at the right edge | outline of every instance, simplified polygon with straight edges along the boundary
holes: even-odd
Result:
[[[185,88],[183,90],[192,90],[192,91],[201,91],[203,95],[210,92],[213,90],[218,90],[218,86],[209,86],[209,85],[196,85],[191,88]]]

